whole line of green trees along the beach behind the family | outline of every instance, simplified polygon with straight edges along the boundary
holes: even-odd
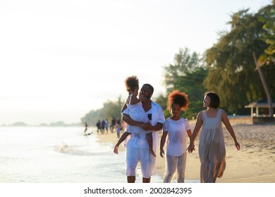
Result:
[[[170,115],[166,110],[167,95],[174,89],[188,94],[190,104],[183,115],[188,119],[195,119],[203,109],[206,91],[218,93],[220,107],[236,115],[249,115],[250,110],[244,106],[252,101],[275,98],[275,0],[257,13],[249,9],[233,13],[228,24],[231,30],[219,32],[218,42],[203,54],[185,47],[175,54],[173,63],[164,66],[166,94],[153,100],[161,105],[166,117]],[[103,108],[91,110],[81,122],[94,125],[105,117],[119,117],[122,106],[121,96],[117,101],[106,101]]]

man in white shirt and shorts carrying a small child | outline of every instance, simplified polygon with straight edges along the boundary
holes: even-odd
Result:
[[[140,89],[140,96],[147,98],[142,102],[142,107],[149,117],[148,123],[132,120],[128,108],[123,111],[123,120],[128,125],[152,131],[153,150],[156,153],[157,148],[159,148],[159,130],[162,129],[164,113],[159,104],[151,101],[153,92],[154,88],[150,84],[144,84],[142,89]],[[152,174],[154,174],[156,158],[149,154],[146,134],[133,133],[130,134],[130,139],[126,144],[126,175],[128,183],[135,182],[135,172],[139,162],[142,170],[142,182],[149,183]]]

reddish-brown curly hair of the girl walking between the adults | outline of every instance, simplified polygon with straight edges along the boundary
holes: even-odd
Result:
[[[189,105],[188,95],[178,90],[171,91],[168,96],[167,109],[171,110],[172,105],[175,103],[181,106],[181,110],[185,112]]]

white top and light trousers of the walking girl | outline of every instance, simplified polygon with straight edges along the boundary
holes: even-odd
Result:
[[[184,182],[188,139],[186,131],[189,129],[190,125],[188,121],[182,117],[179,120],[172,120],[169,117],[164,122],[163,131],[168,132],[164,183],[171,182],[176,171],[177,182]]]

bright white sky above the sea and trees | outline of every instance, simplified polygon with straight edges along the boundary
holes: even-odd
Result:
[[[123,99],[124,80],[165,93],[179,49],[203,53],[231,14],[271,0],[1,0],[0,125],[80,118]]]

